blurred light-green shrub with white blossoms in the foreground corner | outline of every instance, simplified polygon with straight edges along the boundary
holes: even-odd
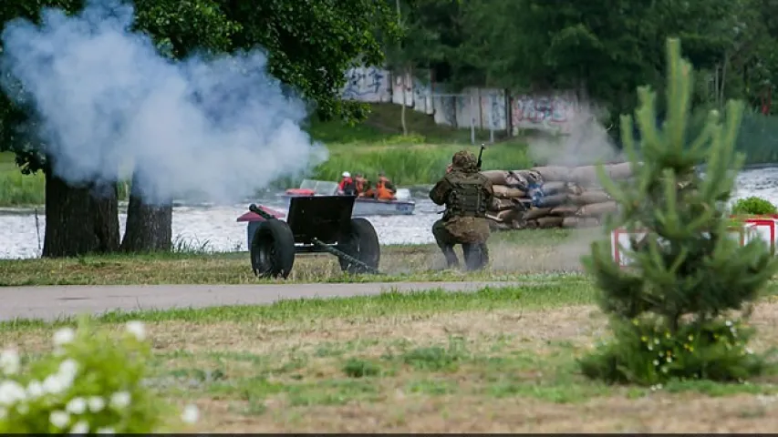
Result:
[[[16,349],[0,355],[0,432],[159,432],[173,424],[171,406],[143,386],[150,345],[129,322],[112,338],[81,320],[54,334],[54,351],[22,369]],[[189,406],[182,422],[196,421]],[[176,421],[178,422],[178,421]],[[181,424],[181,423],[179,423]]]

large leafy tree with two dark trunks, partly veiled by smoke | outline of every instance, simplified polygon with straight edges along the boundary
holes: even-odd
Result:
[[[0,22],[17,17],[37,22],[43,7],[75,13],[81,0],[8,0]],[[152,36],[162,54],[182,58],[195,51],[223,52],[264,47],[270,73],[316,105],[319,116],[359,118],[366,107],[341,102],[345,71],[360,61],[379,64],[379,38],[399,35],[395,15],[372,0],[138,0],[136,30]],[[36,116],[0,96],[0,150],[16,153],[24,173],[43,171],[46,237],[43,256],[74,256],[119,248],[116,186],[113,181],[68,184],[52,171],[46,145],[36,137]],[[119,169],[117,169],[118,178]],[[133,178],[138,175],[133,175]],[[138,184],[133,184],[137,187]],[[150,206],[132,193],[122,248],[169,249],[171,205]]]

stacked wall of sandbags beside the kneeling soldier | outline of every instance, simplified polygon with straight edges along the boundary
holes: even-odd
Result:
[[[606,166],[613,180],[631,178],[628,162]],[[599,187],[596,167],[535,167],[526,170],[486,170],[494,187],[487,214],[493,229],[586,228],[617,210]]]

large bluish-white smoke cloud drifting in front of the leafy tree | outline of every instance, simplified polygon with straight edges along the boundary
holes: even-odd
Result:
[[[327,158],[261,50],[174,62],[130,31],[131,5],[109,1],[46,9],[41,25],[19,19],[2,34],[2,86],[34,104],[57,176],[110,181],[131,162],[147,202],[234,201]]]

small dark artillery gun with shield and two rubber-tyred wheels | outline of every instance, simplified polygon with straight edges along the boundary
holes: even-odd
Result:
[[[286,221],[252,204],[264,219],[251,239],[251,267],[260,278],[286,278],[298,253],[335,255],[348,273],[380,274],[380,245],[367,220],[351,218],[354,196],[290,198]]]

